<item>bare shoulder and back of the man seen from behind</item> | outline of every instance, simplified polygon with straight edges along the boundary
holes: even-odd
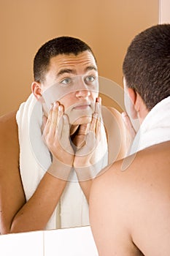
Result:
[[[130,252],[133,246],[143,255],[170,255],[169,156],[170,141],[160,143],[115,162],[93,182],[91,225],[96,232],[100,208],[112,249],[123,244],[123,237],[129,246],[125,255],[138,255]]]

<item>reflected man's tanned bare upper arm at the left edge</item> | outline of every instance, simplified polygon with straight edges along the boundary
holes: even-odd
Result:
[[[15,214],[25,203],[20,179],[16,111],[0,117],[0,233],[9,233]]]

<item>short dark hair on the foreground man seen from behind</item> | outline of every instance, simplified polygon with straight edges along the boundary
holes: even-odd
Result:
[[[134,37],[123,61],[126,85],[151,110],[170,95],[170,24],[152,26]]]

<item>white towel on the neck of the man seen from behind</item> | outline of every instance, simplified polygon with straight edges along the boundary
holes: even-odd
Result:
[[[170,97],[163,99],[147,114],[136,133],[130,154],[170,140]]]

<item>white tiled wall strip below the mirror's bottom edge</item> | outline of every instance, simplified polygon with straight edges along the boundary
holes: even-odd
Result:
[[[98,256],[90,227],[0,236],[1,256]]]

